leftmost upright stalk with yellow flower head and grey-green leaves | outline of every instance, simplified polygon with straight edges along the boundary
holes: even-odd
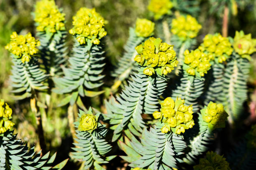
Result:
[[[44,70],[39,67],[37,46],[40,45],[38,40],[27,35],[17,35],[13,32],[10,35],[11,40],[5,46],[5,49],[11,52],[12,57],[12,75],[10,76],[12,92],[15,93],[16,100],[22,100],[31,97],[35,90],[46,90],[48,87],[44,85],[47,75]]]

